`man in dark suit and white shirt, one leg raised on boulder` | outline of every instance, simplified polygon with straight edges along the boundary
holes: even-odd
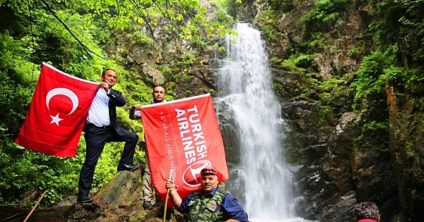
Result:
[[[95,94],[88,111],[83,132],[86,139],[86,160],[81,168],[78,182],[77,202],[92,202],[89,196],[95,166],[103,152],[106,142],[125,142],[124,151],[117,166],[117,171],[135,171],[139,164],[133,165],[134,152],[139,136],[117,125],[117,106],[124,106],[126,99],[122,93],[112,90],[117,81],[115,70],[107,68],[101,75],[100,88]]]

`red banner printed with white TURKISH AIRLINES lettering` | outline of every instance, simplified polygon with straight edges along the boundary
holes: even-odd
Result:
[[[201,169],[218,169],[228,180],[225,150],[210,94],[142,106],[153,185],[165,200],[170,178],[184,198],[200,187]],[[168,202],[172,206],[172,202]]]

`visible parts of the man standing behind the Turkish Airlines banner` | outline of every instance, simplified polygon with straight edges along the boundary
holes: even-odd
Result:
[[[157,104],[165,100],[165,89],[161,86],[156,86],[153,88],[152,92],[152,101],[151,104]],[[135,104],[131,106],[129,110],[129,118],[135,120],[141,118],[141,104]],[[146,156],[147,150],[146,150]],[[143,208],[144,209],[153,209],[154,199],[153,199],[153,183],[152,183],[152,174],[151,174],[151,166],[148,163],[148,159],[146,159],[146,170],[143,174],[143,180],[141,181],[143,184]]]

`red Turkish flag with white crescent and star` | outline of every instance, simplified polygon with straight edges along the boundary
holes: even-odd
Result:
[[[54,156],[76,156],[99,84],[42,63],[40,78],[16,144]]]

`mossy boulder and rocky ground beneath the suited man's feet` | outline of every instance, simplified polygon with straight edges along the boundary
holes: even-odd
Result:
[[[32,222],[125,222],[125,221],[163,221],[163,202],[158,200],[152,210],[144,210],[141,202],[141,168],[134,172],[119,173],[93,195],[94,201],[87,204],[61,204],[48,209],[36,209],[29,217]],[[8,222],[23,221],[29,209],[1,207],[0,220]],[[5,213],[7,212],[7,213]],[[181,215],[170,214],[170,220],[177,221]]]

